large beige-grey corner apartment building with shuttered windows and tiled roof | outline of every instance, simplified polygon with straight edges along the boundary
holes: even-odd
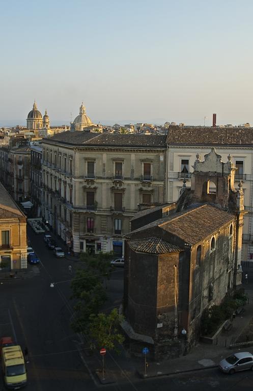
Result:
[[[42,216],[74,253],[124,254],[138,204],[164,201],[165,136],[64,132],[42,141]]]

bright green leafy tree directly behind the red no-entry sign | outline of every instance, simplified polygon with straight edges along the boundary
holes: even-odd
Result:
[[[113,309],[108,315],[99,313],[90,316],[89,335],[94,339],[99,348],[119,352],[117,344],[122,344],[124,336],[120,332],[120,324],[124,320],[117,309]]]

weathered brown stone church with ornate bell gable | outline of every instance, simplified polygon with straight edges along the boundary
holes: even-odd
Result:
[[[132,352],[146,346],[155,359],[186,354],[199,339],[204,309],[241,284],[245,211],[236,167],[212,148],[204,161],[196,155],[193,168],[178,202],[155,221],[147,210],[149,224],[136,229],[137,214],[127,236],[124,330]]]

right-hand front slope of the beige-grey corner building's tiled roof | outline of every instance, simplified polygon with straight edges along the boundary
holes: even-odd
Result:
[[[88,145],[120,147],[158,147],[165,148],[166,136],[160,134],[118,134],[102,133],[86,142]]]

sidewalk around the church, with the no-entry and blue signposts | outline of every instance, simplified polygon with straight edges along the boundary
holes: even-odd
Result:
[[[245,304],[243,315],[236,316],[233,320],[233,327],[229,332],[222,332],[216,341],[217,345],[199,343],[186,356],[164,360],[160,362],[150,361],[147,354],[147,376],[145,376],[145,357],[129,357],[127,351],[120,356],[114,353],[106,353],[106,379],[107,382],[122,382],[128,379],[152,378],[167,376],[179,373],[203,371],[216,368],[219,361],[237,351],[249,351],[253,354],[253,346],[242,346],[231,348],[230,343],[243,332],[253,317],[253,284],[242,285],[249,297],[248,304]],[[226,345],[226,346],[225,346]],[[91,357],[85,358],[91,376],[99,383],[99,376],[96,376],[96,369],[101,369],[101,356],[96,352]],[[101,379],[100,379],[101,380]],[[101,381],[102,382],[102,381]]]

